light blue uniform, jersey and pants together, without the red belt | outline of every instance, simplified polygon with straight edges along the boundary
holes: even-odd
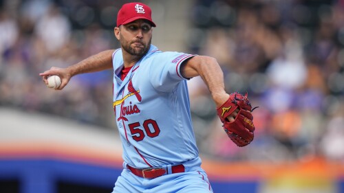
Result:
[[[151,45],[122,81],[122,50],[114,52],[114,111],[125,162],[113,193],[213,192],[201,168],[186,79],[180,74],[181,64],[193,56]],[[180,164],[184,172],[173,172]],[[166,172],[145,179],[127,166]]]

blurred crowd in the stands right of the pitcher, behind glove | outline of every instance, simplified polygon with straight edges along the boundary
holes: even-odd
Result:
[[[344,161],[344,1],[199,0],[191,19],[190,49],[217,58],[228,93],[247,91],[259,106],[255,140],[237,148],[218,129],[202,81],[191,80],[202,152],[231,161]]]

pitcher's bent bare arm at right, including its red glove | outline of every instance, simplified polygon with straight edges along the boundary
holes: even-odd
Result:
[[[253,140],[252,106],[246,95],[226,93],[224,73],[217,60],[209,56],[194,56],[180,67],[184,78],[201,76],[217,106],[217,115],[224,124],[224,131],[237,146],[247,146]]]

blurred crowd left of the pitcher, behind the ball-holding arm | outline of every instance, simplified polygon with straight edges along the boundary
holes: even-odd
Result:
[[[119,6],[113,1],[1,1],[0,105],[114,127],[112,71],[76,76],[63,91],[47,89],[39,73],[118,47],[113,27]]]

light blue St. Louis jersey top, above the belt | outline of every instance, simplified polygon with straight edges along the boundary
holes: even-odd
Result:
[[[114,110],[123,159],[135,168],[182,163],[198,157],[182,62],[194,55],[149,52],[120,80],[122,50],[113,54]]]

